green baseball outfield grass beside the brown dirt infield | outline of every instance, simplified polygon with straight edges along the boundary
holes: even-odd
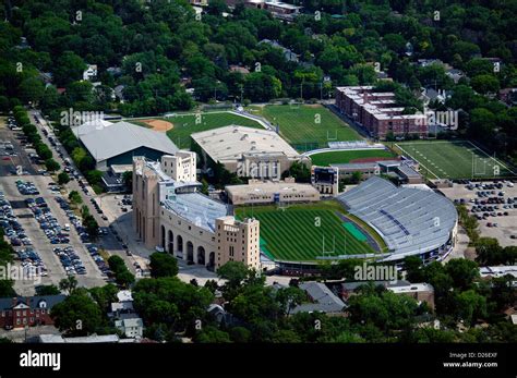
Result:
[[[153,117],[149,117],[149,119]],[[200,115],[193,113],[180,113],[175,117],[155,119],[169,121],[175,125],[172,130],[167,132],[167,135],[179,148],[190,148],[190,136],[193,133],[228,126],[230,124],[263,129],[257,122],[253,120],[228,112],[202,112]],[[145,123],[142,122],[132,122],[142,126],[146,126]]]

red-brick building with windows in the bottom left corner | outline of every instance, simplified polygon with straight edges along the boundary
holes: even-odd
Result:
[[[12,329],[53,325],[50,309],[65,297],[65,295],[45,295],[0,298],[0,327]]]

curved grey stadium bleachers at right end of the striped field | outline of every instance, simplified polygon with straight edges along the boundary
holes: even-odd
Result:
[[[433,191],[397,187],[373,176],[337,199],[364,220],[398,259],[443,246],[450,237],[457,212],[453,203]]]

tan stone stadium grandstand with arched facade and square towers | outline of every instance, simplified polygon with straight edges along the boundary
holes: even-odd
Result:
[[[173,156],[164,156],[160,162],[133,159],[135,233],[146,247],[158,247],[189,264],[217,269],[236,260],[260,269],[260,222],[237,220],[225,204],[201,194],[195,154],[190,154],[181,161]],[[183,180],[175,180],[179,178]]]

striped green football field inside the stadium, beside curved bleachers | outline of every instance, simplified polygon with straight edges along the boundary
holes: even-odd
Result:
[[[284,209],[273,205],[236,208],[239,218],[253,215],[261,221],[262,249],[276,260],[314,261],[323,255],[374,253],[370,245],[357,240],[345,228],[336,211],[344,212],[337,202],[291,205]],[[320,227],[316,227],[317,218]]]

